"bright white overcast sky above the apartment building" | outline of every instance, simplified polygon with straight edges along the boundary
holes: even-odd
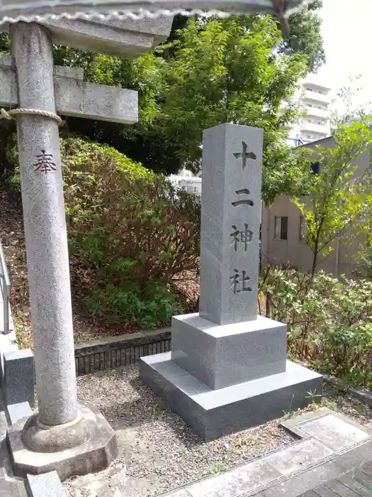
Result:
[[[322,36],[327,62],[318,74],[334,92],[361,74],[361,102],[372,101],[372,0],[323,0]]]

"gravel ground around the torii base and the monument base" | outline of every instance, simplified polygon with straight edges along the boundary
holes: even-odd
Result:
[[[78,392],[116,430],[120,455],[106,471],[66,481],[73,497],[154,496],[293,442],[280,420],[203,442],[140,383],[137,366],[82,376]],[[372,419],[371,407],[329,386],[322,405],[361,423]]]

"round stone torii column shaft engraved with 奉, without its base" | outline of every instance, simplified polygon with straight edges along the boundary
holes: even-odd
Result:
[[[55,112],[50,33],[14,24],[11,47],[20,106]],[[17,134],[39,416],[60,425],[77,417],[77,389],[58,126],[24,115]]]

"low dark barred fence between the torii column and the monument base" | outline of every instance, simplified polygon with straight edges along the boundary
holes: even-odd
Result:
[[[169,352],[170,349],[171,339],[169,338],[147,344],[124,346],[123,348],[81,355],[75,357],[77,376],[129,366],[139,361],[140,357]]]

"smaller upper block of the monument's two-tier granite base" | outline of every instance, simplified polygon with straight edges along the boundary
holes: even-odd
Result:
[[[286,371],[286,324],[218,326],[198,314],[173,317],[171,360],[214,390]]]

